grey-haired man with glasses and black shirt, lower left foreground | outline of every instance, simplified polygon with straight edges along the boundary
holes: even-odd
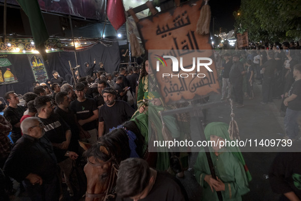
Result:
[[[37,117],[22,121],[23,136],[15,143],[4,172],[23,182],[32,200],[59,200],[57,159],[51,142],[44,136],[44,128]]]

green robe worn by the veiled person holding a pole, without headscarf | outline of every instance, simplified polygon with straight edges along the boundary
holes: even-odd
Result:
[[[241,200],[241,195],[250,191],[248,179],[241,162],[232,153],[227,152],[226,148],[223,150],[224,152],[218,156],[215,156],[213,152],[210,153],[216,177],[225,184],[225,191],[221,191],[223,200]],[[203,187],[202,200],[218,201],[214,188],[212,192],[208,183],[204,181],[205,175],[211,174],[204,152],[198,155],[195,173],[198,183]]]

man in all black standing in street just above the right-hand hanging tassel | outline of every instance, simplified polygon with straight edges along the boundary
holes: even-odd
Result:
[[[229,74],[229,82],[232,84],[233,94],[234,94],[234,105],[236,108],[242,108],[243,105],[243,92],[242,92],[242,82],[243,74],[245,73],[242,63],[239,61],[239,56],[233,56],[233,65]]]

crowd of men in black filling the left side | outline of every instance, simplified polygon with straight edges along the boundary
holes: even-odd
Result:
[[[113,75],[104,71],[103,64],[97,69],[95,62],[85,67],[87,76],[79,78],[75,72],[77,84],[74,79],[66,82],[54,70],[51,80],[36,83],[33,92],[22,95],[24,106],[14,91],[5,94],[6,101],[0,99],[4,105],[4,115],[0,115],[1,200],[9,200],[8,194],[14,193],[11,179],[32,200],[57,200],[64,180],[76,200],[81,195],[69,178],[74,161],[79,163],[83,154],[78,140],[93,144],[134,114],[138,67],[122,67]]]

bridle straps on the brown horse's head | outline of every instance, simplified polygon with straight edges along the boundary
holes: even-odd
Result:
[[[101,143],[101,142],[98,142],[98,143]],[[104,146],[103,143],[101,143],[101,144]],[[104,146],[104,147],[106,147],[106,146]],[[114,185],[115,179],[117,178],[117,173],[118,173],[118,168],[119,168],[118,163],[116,162],[115,156],[113,155],[110,159],[108,159],[107,161],[102,162],[102,163],[96,163],[96,164],[92,163],[91,161],[89,161],[89,157],[87,158],[87,161],[92,166],[100,166],[100,165],[109,163],[111,161],[113,161],[113,162],[112,162],[112,167],[111,167],[110,180],[108,182],[108,187],[107,187],[106,191],[104,191],[102,193],[98,193],[98,194],[92,194],[92,193],[88,193],[86,191],[86,197],[90,197],[93,199],[103,197],[103,201],[105,201],[108,198],[115,198],[116,197],[115,187],[113,185]]]

